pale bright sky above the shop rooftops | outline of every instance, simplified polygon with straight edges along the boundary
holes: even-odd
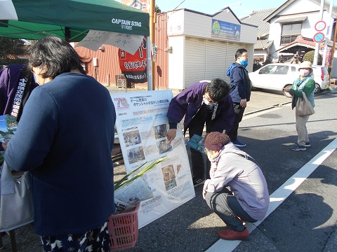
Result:
[[[243,18],[252,13],[253,10],[278,8],[285,2],[286,0],[155,0],[156,5],[162,12],[173,10],[180,3],[177,9],[188,8],[210,15],[229,6],[232,12],[237,15],[237,18]]]

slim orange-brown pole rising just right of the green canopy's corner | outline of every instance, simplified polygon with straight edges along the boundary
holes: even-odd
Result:
[[[156,84],[155,84],[155,73],[156,73],[156,68],[155,68],[155,61],[156,61],[156,52],[155,52],[155,43],[156,43],[156,18],[157,18],[157,13],[156,13],[156,1],[155,0],[150,0],[150,41],[151,45],[149,48],[151,48],[152,51],[152,58],[151,58],[151,72],[152,72],[152,90],[156,89]]]

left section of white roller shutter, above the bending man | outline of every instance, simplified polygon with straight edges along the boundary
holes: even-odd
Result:
[[[206,40],[186,37],[185,41],[185,87],[205,80]]]

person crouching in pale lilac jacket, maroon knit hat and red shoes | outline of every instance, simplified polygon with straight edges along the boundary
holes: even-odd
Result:
[[[227,225],[218,231],[221,239],[249,239],[244,221],[254,223],[265,217],[269,206],[267,182],[253,158],[239,150],[227,134],[211,132],[204,141],[211,161],[210,176],[202,196]]]

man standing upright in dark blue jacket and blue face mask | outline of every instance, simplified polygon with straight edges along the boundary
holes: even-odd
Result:
[[[237,139],[237,129],[244,116],[247,102],[251,99],[251,80],[248,76],[246,66],[248,64],[247,50],[242,48],[235,53],[235,62],[227,69],[230,77],[230,97],[233,100],[235,118],[232,130],[227,132],[234,146],[244,147],[246,144]]]

